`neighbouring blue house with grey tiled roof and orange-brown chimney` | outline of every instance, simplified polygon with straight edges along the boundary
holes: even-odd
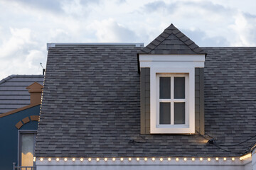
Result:
[[[11,75],[0,81],[0,169],[33,166],[43,75]]]

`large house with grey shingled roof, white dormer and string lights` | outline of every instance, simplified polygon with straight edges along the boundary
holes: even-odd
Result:
[[[51,43],[36,166],[255,169],[256,47]]]

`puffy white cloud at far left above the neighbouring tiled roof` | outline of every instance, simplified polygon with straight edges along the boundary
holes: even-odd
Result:
[[[0,47],[1,79],[10,74],[41,74],[40,62],[46,64],[46,54],[31,50],[37,45],[28,28],[10,28],[11,37]]]

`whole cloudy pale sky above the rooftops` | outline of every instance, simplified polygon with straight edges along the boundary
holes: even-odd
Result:
[[[41,74],[47,42],[144,42],[174,23],[201,47],[256,46],[255,0],[0,0],[0,80]]]

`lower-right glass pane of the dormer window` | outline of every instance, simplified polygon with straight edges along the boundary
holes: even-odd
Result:
[[[185,124],[185,102],[174,103],[174,124]]]

